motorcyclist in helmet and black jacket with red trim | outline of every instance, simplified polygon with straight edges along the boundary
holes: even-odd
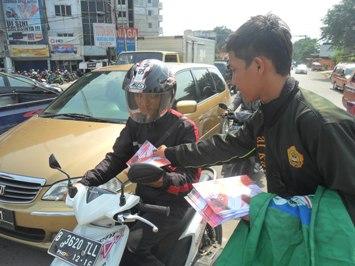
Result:
[[[146,140],[158,147],[161,144],[191,143],[198,139],[195,124],[171,109],[176,80],[163,62],[144,60],[135,64],[126,74],[123,89],[130,114],[126,127],[117,138],[113,151],[85,174],[80,181],[84,185],[98,186],[115,177],[126,168],[126,162]],[[158,181],[137,184],[136,194],[144,203],[169,206],[170,215],[141,214],[156,224],[159,231],[153,233],[150,227],[137,222],[130,230],[120,265],[163,265],[152,254],[152,248],[180,229],[180,221],[188,209],[184,196],[192,189],[192,183],[199,180],[200,171],[169,166],[164,170],[166,172]]]

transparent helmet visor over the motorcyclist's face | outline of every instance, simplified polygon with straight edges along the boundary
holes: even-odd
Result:
[[[150,123],[162,117],[172,105],[173,93],[142,93],[126,91],[130,117],[138,123]]]

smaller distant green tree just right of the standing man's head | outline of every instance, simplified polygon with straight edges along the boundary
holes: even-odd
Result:
[[[293,59],[296,62],[305,62],[307,58],[313,57],[319,51],[317,39],[305,37],[293,44]]]

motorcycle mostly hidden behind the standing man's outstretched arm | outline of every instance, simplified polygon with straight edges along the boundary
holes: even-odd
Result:
[[[222,133],[238,131],[253,114],[247,110],[232,111],[224,103],[220,103],[219,107],[226,111],[223,115]],[[252,177],[258,171],[261,171],[261,168],[254,156],[242,159],[238,158],[222,166],[222,175],[224,177],[236,175],[248,175]]]

